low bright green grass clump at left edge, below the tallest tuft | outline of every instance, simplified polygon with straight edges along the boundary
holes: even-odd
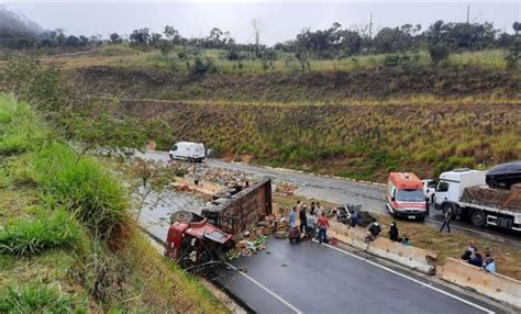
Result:
[[[52,215],[41,212],[35,220],[14,220],[0,229],[0,254],[33,255],[45,249],[74,248],[81,240],[81,228],[65,210]]]

